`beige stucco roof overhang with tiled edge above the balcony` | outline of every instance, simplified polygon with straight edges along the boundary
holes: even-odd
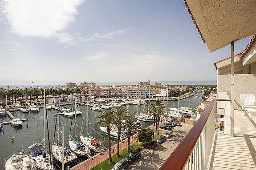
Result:
[[[210,52],[256,33],[256,0],[184,0]]]

